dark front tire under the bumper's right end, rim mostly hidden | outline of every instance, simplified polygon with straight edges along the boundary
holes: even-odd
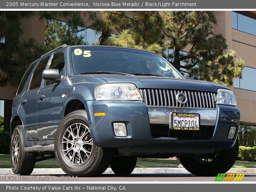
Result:
[[[235,145],[228,150],[221,150],[212,158],[184,158],[180,162],[186,170],[197,176],[217,176],[219,173],[226,173],[234,165],[239,150],[238,139]],[[211,160],[211,161],[210,161]]]

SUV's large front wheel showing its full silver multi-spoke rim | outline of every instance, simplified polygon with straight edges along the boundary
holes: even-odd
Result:
[[[62,120],[54,149],[62,170],[74,176],[98,176],[112,160],[109,150],[92,141],[85,110],[71,112]]]

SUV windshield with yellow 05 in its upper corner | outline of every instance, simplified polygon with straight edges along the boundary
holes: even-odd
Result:
[[[167,60],[150,52],[103,46],[74,47],[70,52],[75,74],[116,72],[183,78]]]

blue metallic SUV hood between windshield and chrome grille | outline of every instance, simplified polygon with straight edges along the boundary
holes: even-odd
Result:
[[[90,76],[97,76],[108,83],[133,83],[136,84],[138,88],[195,90],[206,92],[217,92],[218,88],[230,90],[230,88],[226,86],[201,80],[176,79],[158,76],[122,76],[112,74],[95,74]]]

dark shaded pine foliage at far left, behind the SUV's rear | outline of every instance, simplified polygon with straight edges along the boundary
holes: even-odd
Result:
[[[18,84],[24,74],[24,70],[34,60],[35,55],[42,53],[46,48],[38,48],[38,43],[32,38],[25,42],[19,41],[20,18],[29,17],[34,12],[29,11],[0,11],[0,85],[6,86],[9,83]],[[28,42],[31,44],[27,47]],[[33,49],[38,48],[35,52]],[[28,52],[25,52],[28,51]],[[21,54],[25,53],[25,55]],[[30,54],[30,55],[28,55]]]

